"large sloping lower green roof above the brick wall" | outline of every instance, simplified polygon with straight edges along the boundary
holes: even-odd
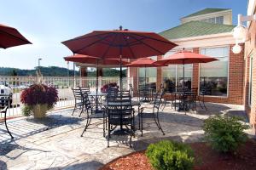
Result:
[[[235,26],[212,24],[208,22],[202,22],[193,20],[183,25],[173,27],[169,30],[160,32],[160,36],[167,39],[177,39],[183,37],[197,37],[211,34],[218,34],[224,32],[230,32]]]

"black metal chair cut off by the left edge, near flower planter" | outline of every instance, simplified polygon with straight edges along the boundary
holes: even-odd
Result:
[[[8,128],[7,122],[6,122],[6,118],[7,118],[6,114],[7,114],[8,108],[9,108],[10,96],[1,95],[0,98],[1,98],[0,115],[2,115],[2,114],[4,115],[3,120],[0,119],[0,123],[4,122],[7,133],[9,133],[9,136],[11,137],[11,139],[14,139],[12,133],[9,132],[9,128]]]

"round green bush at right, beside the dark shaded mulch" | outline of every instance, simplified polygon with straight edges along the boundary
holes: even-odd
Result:
[[[203,126],[206,140],[214,150],[220,152],[235,151],[247,141],[247,134],[243,130],[249,128],[237,116],[212,116]]]

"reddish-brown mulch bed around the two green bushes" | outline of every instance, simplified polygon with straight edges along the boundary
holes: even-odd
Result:
[[[256,142],[254,140],[247,141],[233,155],[219,154],[206,143],[193,143],[190,146],[195,151],[195,170],[247,170],[256,168]],[[134,169],[153,170],[147,156],[145,156],[145,151],[119,157],[101,168],[101,170]]]

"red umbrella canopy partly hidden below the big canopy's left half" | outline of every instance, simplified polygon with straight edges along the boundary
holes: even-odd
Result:
[[[84,64],[92,64],[96,65],[98,61],[98,65],[119,65],[119,59],[101,59],[98,57],[92,57],[89,55],[82,55],[82,54],[74,54],[72,56],[64,57],[66,61],[73,61],[78,63]],[[127,65],[129,62],[122,60],[122,65]]]

